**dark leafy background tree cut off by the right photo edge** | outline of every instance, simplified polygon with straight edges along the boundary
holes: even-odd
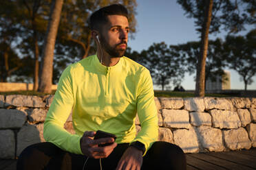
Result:
[[[226,36],[226,61],[230,69],[241,75],[244,81],[244,90],[253,82],[256,75],[256,29],[246,36]]]

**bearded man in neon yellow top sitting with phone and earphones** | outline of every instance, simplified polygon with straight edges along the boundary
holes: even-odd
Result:
[[[45,119],[47,143],[26,148],[17,169],[186,169],[180,147],[156,142],[158,116],[149,71],[123,56],[127,9],[109,5],[94,12],[89,23],[97,53],[65,69]],[[70,110],[76,134],[63,129]],[[94,139],[97,130],[115,134],[116,141]],[[111,145],[98,146],[105,143]]]

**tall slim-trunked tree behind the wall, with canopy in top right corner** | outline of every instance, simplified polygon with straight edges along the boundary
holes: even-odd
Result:
[[[189,18],[195,19],[197,31],[201,34],[200,56],[198,56],[195,95],[204,96],[204,77],[206,51],[208,48],[208,34],[220,32],[224,25],[225,30],[239,32],[244,24],[255,23],[255,3],[248,0],[178,0]],[[244,7],[246,5],[246,7]],[[241,10],[244,8],[244,10]],[[241,12],[242,11],[242,12]]]

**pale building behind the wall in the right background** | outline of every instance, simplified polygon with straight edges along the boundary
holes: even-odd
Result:
[[[231,72],[224,71],[224,75],[218,76],[215,82],[206,80],[206,90],[230,90],[231,89]]]

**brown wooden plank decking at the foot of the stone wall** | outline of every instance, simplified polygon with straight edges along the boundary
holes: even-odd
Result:
[[[188,170],[253,170],[256,169],[256,148],[242,151],[186,154]],[[16,160],[0,160],[0,170],[15,170]]]

